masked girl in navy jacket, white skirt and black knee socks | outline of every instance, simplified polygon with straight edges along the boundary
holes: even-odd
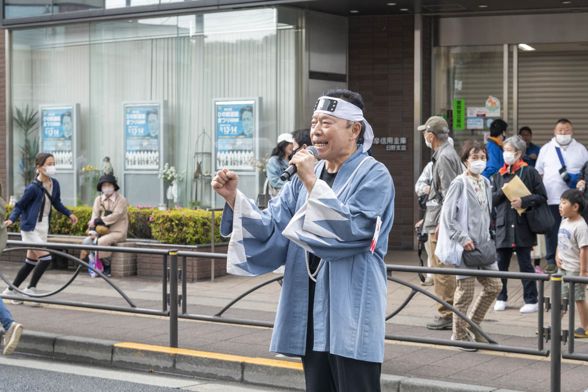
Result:
[[[49,222],[51,221],[51,206],[54,206],[63,215],[68,216],[74,226],[78,223],[78,218],[61,203],[59,182],[52,178],[55,175],[55,158],[53,155],[45,152],[37,154],[35,165],[39,176],[33,180],[31,185],[25,188],[24,195],[15,204],[14,210],[12,210],[10,217],[4,224],[10,226],[22,215],[20,222],[22,240],[24,242],[47,242]],[[12,285],[19,287],[32,271],[31,282],[22,291],[26,294],[36,294],[36,285],[49,264],[51,264],[51,259],[51,254],[43,250],[26,251],[25,263],[16,274]],[[14,295],[14,292],[6,287],[4,294]],[[11,302],[13,304],[22,303],[22,301],[18,300],[11,300]],[[36,306],[39,306],[39,304],[36,304]]]

